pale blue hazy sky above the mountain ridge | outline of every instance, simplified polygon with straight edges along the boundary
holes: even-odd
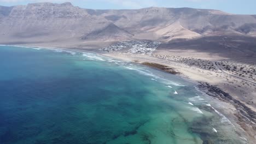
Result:
[[[234,14],[256,14],[256,0],[0,0],[0,5],[10,6],[35,2],[71,2],[90,9],[138,9],[145,7],[218,9]]]

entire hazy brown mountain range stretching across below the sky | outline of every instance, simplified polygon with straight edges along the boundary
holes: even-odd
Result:
[[[256,16],[192,8],[94,10],[71,3],[33,3],[0,6],[0,27],[1,44],[171,41],[214,35],[254,37]]]

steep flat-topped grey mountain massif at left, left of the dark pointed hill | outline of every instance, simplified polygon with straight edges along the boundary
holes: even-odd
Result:
[[[3,39],[13,41],[79,40],[82,35],[109,25],[71,3],[36,3],[13,7],[1,18]]]

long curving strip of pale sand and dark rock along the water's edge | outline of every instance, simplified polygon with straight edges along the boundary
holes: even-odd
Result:
[[[247,140],[251,143],[256,141],[256,133],[254,130],[256,130],[256,113],[251,109],[251,107],[247,107],[247,105],[241,103],[236,98],[232,97],[232,94],[226,93],[225,89],[222,87],[217,87],[217,80],[214,80],[213,82],[209,82],[207,79],[205,79],[204,76],[199,77],[198,74],[188,74],[191,73],[191,71],[194,71],[195,73],[197,69],[189,68],[182,64],[177,64],[174,62],[166,63],[163,59],[157,59],[150,56],[129,56],[129,55],[119,55],[117,53],[104,53],[100,51],[88,51],[88,50],[80,50],[75,48],[61,48],[61,47],[44,47],[44,46],[29,46],[29,45],[7,45],[7,46],[21,46],[21,47],[38,47],[41,49],[59,49],[63,51],[72,51],[72,52],[89,52],[89,53],[96,53],[97,55],[101,55],[104,57],[110,57],[114,59],[120,59],[121,61],[126,62],[135,62],[138,64],[146,65],[151,68],[155,68],[161,71],[168,72],[169,68],[174,70],[177,76],[181,77],[182,79],[185,79],[191,83],[194,83],[197,88],[199,88],[200,92],[207,94],[209,97],[212,97],[214,100],[218,99],[222,102],[223,105],[229,105],[228,109],[223,109],[223,105],[218,106],[218,104],[214,104],[214,108],[216,108],[220,113],[223,113],[228,119],[231,120],[231,123],[235,125],[235,128],[238,129],[239,133],[242,135],[242,137],[246,137]],[[143,64],[144,63],[144,64]],[[182,65],[182,66],[181,66]],[[168,67],[168,68],[167,68]],[[181,69],[179,69],[181,68]],[[186,69],[190,69],[186,71]],[[167,71],[166,71],[167,70]],[[172,74],[172,73],[171,73]],[[192,78],[191,78],[192,77]],[[199,78],[197,80],[197,78]],[[212,79],[212,77],[207,77],[208,79]],[[215,91],[216,90],[216,91]],[[225,94],[228,94],[228,97],[225,97]],[[223,97],[224,95],[224,97]],[[211,99],[211,98],[210,98]],[[239,102],[237,102],[239,101]],[[218,103],[218,101],[216,101]],[[230,106],[232,105],[232,106]],[[242,107],[242,108],[241,108]],[[244,112],[249,113],[249,117],[245,116]],[[255,117],[254,117],[255,115]],[[248,119],[252,121],[254,124],[248,124]],[[249,127],[252,128],[249,128]],[[255,134],[253,134],[255,133]]]

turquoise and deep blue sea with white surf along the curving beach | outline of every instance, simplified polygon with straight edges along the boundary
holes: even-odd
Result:
[[[94,53],[0,46],[0,143],[245,143],[194,85]]]

